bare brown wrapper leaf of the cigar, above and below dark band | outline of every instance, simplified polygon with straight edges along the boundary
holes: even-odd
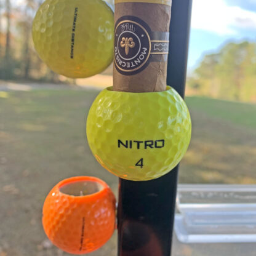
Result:
[[[122,2],[115,5],[114,20],[124,16],[138,17],[153,32],[169,32],[171,7],[165,4]],[[115,56],[114,56],[115,58]],[[155,61],[155,60],[158,61]],[[114,65],[113,86],[121,92],[161,92],[166,90],[167,54],[151,55],[146,68],[137,74],[121,74]]]

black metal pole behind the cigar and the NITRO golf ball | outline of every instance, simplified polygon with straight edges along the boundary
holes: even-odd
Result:
[[[184,97],[192,0],[172,0],[167,84]],[[178,166],[148,182],[119,180],[118,255],[170,256]]]

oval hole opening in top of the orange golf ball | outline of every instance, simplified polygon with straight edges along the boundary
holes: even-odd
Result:
[[[68,183],[60,187],[60,192],[70,196],[88,196],[103,190],[103,186],[97,182],[82,181]]]

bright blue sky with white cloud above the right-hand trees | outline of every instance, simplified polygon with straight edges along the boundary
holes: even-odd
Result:
[[[256,42],[256,0],[193,0],[188,70],[226,42]]]

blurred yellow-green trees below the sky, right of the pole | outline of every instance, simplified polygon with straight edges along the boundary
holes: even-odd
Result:
[[[204,56],[188,86],[210,97],[256,100],[256,44],[230,43],[217,54]]]

